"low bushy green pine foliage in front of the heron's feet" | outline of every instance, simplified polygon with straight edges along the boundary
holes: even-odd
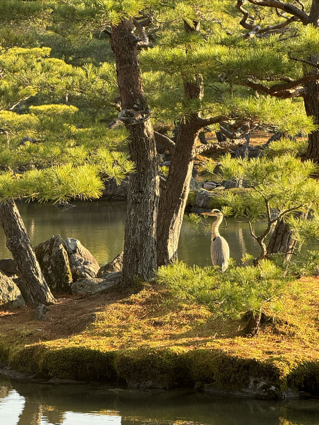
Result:
[[[269,260],[258,267],[189,267],[182,262],[160,267],[157,282],[169,288],[173,298],[204,304],[215,316],[238,319],[244,313],[267,310],[276,315],[289,292],[291,277]]]

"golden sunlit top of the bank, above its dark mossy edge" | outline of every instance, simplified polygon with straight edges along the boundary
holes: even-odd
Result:
[[[171,299],[157,285],[126,297],[102,293],[59,298],[42,322],[29,307],[2,311],[0,337],[19,345],[46,341],[51,348],[200,347],[258,360],[282,355],[319,360],[319,279],[301,283],[298,299],[286,299],[277,320],[264,324],[254,338],[241,336],[240,321],[214,319],[205,307]]]

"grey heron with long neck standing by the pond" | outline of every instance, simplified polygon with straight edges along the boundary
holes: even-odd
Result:
[[[223,221],[223,214],[219,210],[211,210],[210,212],[201,213],[202,215],[211,215],[217,217],[211,227],[211,261],[214,266],[219,266],[222,272],[228,267],[229,246],[227,241],[219,234],[219,225]]]

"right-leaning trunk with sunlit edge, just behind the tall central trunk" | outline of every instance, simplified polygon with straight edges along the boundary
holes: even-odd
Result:
[[[184,82],[185,97],[201,99],[203,80],[201,75],[195,81]],[[194,147],[199,134],[198,114],[179,126],[179,132],[169,167],[165,190],[160,197],[158,217],[158,265],[167,265],[177,260],[177,246],[183,220],[189,182],[194,163]]]

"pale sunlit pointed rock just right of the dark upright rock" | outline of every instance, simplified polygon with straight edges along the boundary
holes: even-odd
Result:
[[[82,278],[95,278],[100,266],[90,251],[74,238],[67,238],[64,243],[69,256],[73,282]]]

